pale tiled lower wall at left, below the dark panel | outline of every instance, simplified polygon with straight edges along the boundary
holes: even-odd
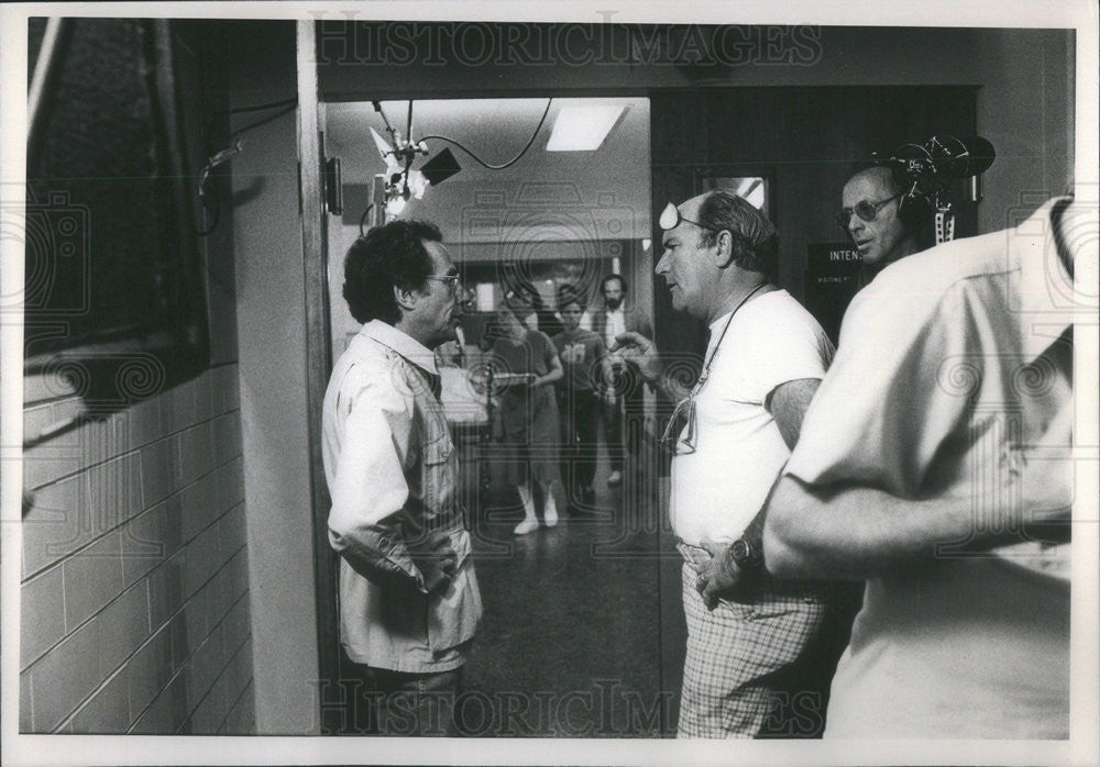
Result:
[[[77,413],[26,379],[24,437]],[[20,730],[254,730],[238,366],[25,453]]]

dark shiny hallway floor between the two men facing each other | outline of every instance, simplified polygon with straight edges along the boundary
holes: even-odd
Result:
[[[494,467],[488,474],[482,502],[468,504],[480,508],[471,532],[484,618],[466,664],[465,710],[457,712],[465,734],[670,734],[675,696],[662,688],[660,588],[668,563],[653,504],[608,487],[601,452],[595,500],[572,503],[554,527],[516,536],[518,496]]]

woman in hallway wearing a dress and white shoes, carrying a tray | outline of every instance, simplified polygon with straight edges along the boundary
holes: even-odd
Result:
[[[558,524],[560,424],[552,383],[562,377],[562,367],[550,338],[528,330],[510,309],[498,310],[494,324],[490,364],[502,387],[498,433],[503,444],[513,448],[505,471],[524,507],[524,520],[515,533],[526,535],[539,527],[532,480],[541,490],[543,523],[548,527]],[[509,380],[508,376],[522,378]]]

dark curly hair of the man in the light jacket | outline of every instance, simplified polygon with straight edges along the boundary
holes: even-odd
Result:
[[[359,237],[344,258],[343,297],[351,315],[358,322],[398,322],[394,288],[422,290],[435,271],[424,241],[442,240],[439,227],[427,221],[391,221]]]

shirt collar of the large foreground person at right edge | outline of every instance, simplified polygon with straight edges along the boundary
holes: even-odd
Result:
[[[1074,291],[1074,279],[1058,257],[1052,211],[1058,199],[1043,204],[1035,213],[1005,234],[1009,244],[1011,310],[1021,323],[1024,353],[1034,359],[1074,322],[1074,307],[1082,305]],[[1081,237],[1065,237],[1066,246],[1080,253]],[[1078,258],[1078,262],[1082,258]]]

